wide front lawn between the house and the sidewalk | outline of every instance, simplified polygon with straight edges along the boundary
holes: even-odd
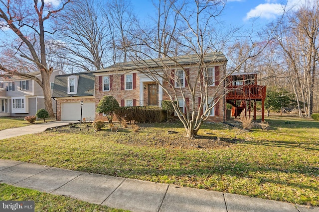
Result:
[[[319,206],[318,122],[267,121],[270,130],[249,133],[205,124],[196,140],[179,123],[139,124],[138,133],[76,125],[0,140],[0,158]]]

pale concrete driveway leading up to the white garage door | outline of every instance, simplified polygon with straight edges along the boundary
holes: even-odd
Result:
[[[0,140],[9,139],[16,136],[23,136],[27,134],[41,133],[47,129],[69,125],[70,123],[78,123],[75,121],[54,121],[45,122],[41,124],[32,124],[25,127],[11,128],[0,131]]]

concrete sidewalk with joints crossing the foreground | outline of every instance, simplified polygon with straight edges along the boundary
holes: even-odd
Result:
[[[0,182],[133,212],[319,212],[318,207],[1,159]]]

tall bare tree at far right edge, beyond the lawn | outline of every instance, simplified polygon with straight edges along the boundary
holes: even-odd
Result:
[[[299,115],[313,113],[314,86],[318,66],[319,2],[306,3],[296,12],[290,12],[277,31],[289,80],[293,86]],[[302,105],[300,104],[302,102]]]

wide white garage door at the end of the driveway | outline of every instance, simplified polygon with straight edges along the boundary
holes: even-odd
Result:
[[[76,121],[81,117],[80,102],[64,102],[61,107],[61,120]],[[95,118],[95,102],[83,102],[82,119],[94,121]]]

